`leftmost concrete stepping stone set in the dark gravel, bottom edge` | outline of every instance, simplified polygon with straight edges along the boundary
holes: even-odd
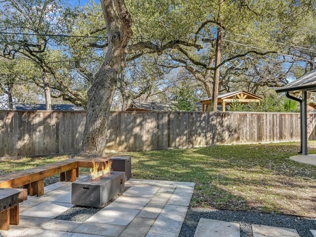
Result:
[[[194,237],[240,237],[239,224],[201,218]]]

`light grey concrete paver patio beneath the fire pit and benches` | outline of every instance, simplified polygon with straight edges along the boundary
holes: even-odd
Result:
[[[83,176],[80,176],[83,178]],[[84,222],[54,219],[71,204],[71,183],[44,188],[41,197],[20,204],[20,225],[1,237],[178,237],[194,183],[160,180],[126,182],[122,196]]]

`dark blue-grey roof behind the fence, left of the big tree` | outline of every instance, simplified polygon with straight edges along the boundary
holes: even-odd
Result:
[[[53,111],[83,111],[82,106],[77,105],[64,105],[64,104],[55,104],[51,105]],[[20,111],[32,111],[32,110],[46,110],[45,104],[15,104],[15,110]]]

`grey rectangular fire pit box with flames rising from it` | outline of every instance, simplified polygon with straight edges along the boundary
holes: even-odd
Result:
[[[124,172],[111,171],[99,181],[91,176],[72,183],[71,203],[79,206],[101,207],[124,189]]]

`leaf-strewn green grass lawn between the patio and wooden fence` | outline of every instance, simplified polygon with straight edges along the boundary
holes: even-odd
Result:
[[[316,142],[309,146],[316,154]],[[133,178],[195,182],[193,206],[316,217],[316,166],[289,160],[298,150],[298,143],[278,143],[127,154]],[[65,158],[1,161],[0,174]]]

